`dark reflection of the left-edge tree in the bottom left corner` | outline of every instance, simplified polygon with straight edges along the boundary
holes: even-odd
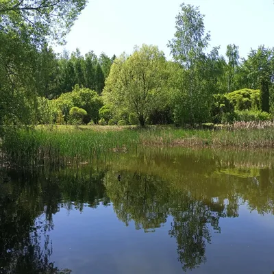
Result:
[[[37,208],[18,202],[18,190],[1,190],[1,273],[50,273],[54,270],[49,266],[51,224],[42,216],[38,217],[41,212]]]

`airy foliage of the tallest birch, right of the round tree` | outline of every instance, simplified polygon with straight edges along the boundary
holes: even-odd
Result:
[[[208,55],[204,53],[210,35],[205,34],[203,17],[199,8],[182,4],[176,16],[175,38],[168,45],[173,59],[179,64],[171,65],[173,112],[177,125],[204,123],[210,119],[212,94],[216,89],[212,76],[219,71],[219,53],[218,48]]]

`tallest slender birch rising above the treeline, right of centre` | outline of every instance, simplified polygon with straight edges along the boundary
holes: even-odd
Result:
[[[173,59],[182,67],[175,94],[175,120],[177,123],[197,123],[201,116],[206,119],[210,96],[201,82],[201,62],[205,62],[204,50],[208,47],[210,34],[206,33],[203,14],[199,8],[182,3],[176,16],[175,38],[169,41]],[[175,80],[178,81],[178,80]],[[203,113],[206,110],[208,113]]]

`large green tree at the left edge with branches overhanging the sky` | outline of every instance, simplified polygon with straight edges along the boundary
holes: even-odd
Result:
[[[12,0],[0,3],[0,123],[5,117],[32,123],[23,109],[34,107],[38,81],[34,71],[46,42],[64,42],[86,0]],[[45,79],[45,78],[44,78]],[[23,97],[24,100],[18,99]],[[20,110],[20,111],[18,111]]]

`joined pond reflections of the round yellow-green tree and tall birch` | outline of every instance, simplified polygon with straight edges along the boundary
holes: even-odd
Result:
[[[111,176],[113,177],[113,176]],[[175,191],[157,177],[133,173],[116,182],[106,181],[114,211],[126,225],[133,220],[136,229],[155,229],[173,216],[169,234],[176,238],[178,260],[184,271],[206,262],[206,242],[210,228],[219,228],[219,216],[186,191]]]

